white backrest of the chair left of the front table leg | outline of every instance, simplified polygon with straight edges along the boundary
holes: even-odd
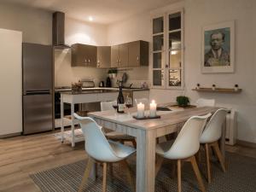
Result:
[[[94,119],[80,117],[77,113],[73,113],[73,115],[79,119],[85,138],[85,151],[90,157],[103,162],[119,160],[104,136],[101,127],[96,124]]]

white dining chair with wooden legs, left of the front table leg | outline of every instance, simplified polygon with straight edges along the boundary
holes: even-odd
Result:
[[[125,159],[136,152],[135,148],[125,146],[121,143],[116,143],[107,140],[102,132],[102,127],[96,124],[94,119],[90,117],[80,117],[77,113],[73,114],[76,119],[79,119],[79,125],[82,128],[85,138],[85,151],[88,154],[88,163],[84,172],[82,183],[79,186],[79,192],[83,191],[91,168],[95,162],[103,164],[103,184],[102,191],[107,191],[107,166],[109,163],[121,162],[124,168],[127,169],[129,182],[132,189],[134,184],[132,182],[131,170]]]

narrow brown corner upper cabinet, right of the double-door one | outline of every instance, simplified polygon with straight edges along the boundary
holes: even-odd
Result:
[[[99,46],[97,47],[97,67],[109,68],[111,67],[111,47]]]

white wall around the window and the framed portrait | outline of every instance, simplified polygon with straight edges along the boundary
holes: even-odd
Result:
[[[195,102],[199,97],[215,98],[219,106],[235,108],[238,111],[238,139],[256,143],[256,2],[254,0],[185,0],[182,3],[171,4],[109,26],[108,42],[119,44],[144,36],[152,45],[150,15],[182,7],[185,10],[185,89],[150,90],[151,98],[158,102],[175,101],[176,96],[180,94],[189,96],[191,102]],[[202,26],[226,20],[236,20],[236,72],[202,74],[200,67]],[[152,65],[152,61],[150,64]],[[150,79],[150,76],[148,78]],[[199,94],[191,90],[197,83],[204,86],[217,84],[218,87],[233,87],[234,84],[239,84],[243,90],[237,95]]]

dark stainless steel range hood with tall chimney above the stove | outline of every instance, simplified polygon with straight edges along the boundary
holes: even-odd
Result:
[[[52,44],[55,49],[69,49],[65,44],[65,14],[55,12],[52,18]]]

